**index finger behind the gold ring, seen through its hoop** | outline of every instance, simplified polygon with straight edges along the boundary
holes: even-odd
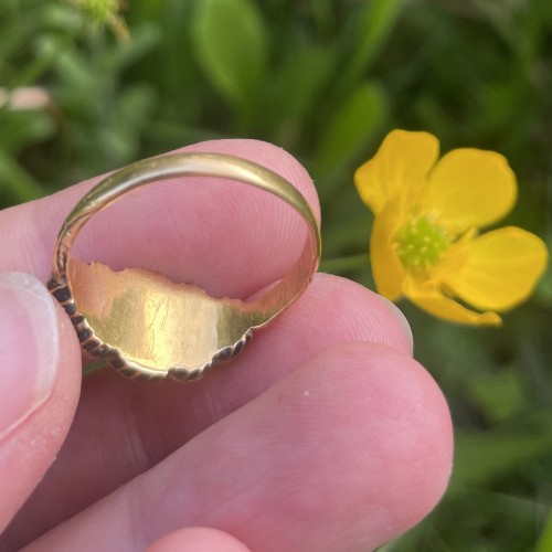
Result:
[[[316,189],[305,169],[269,144],[208,141],[180,151],[230,153],[263,164],[298,188],[319,217]],[[100,179],[0,213],[0,270],[45,279],[66,214]],[[183,181],[185,180],[185,182]],[[75,253],[114,269],[141,267],[214,296],[246,297],[280,278],[297,261],[305,222],[285,202],[251,185],[213,178],[150,184],[97,213]]]

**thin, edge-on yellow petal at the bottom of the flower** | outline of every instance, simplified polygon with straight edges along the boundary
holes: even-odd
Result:
[[[406,278],[403,291],[414,305],[431,315],[450,322],[470,326],[500,326],[500,316],[496,312],[476,312],[443,295],[437,288],[425,289],[411,278]]]

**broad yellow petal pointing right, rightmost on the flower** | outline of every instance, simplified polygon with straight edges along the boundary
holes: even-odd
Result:
[[[509,226],[467,244],[467,261],[446,280],[454,293],[476,308],[507,310],[524,301],[546,267],[544,242]]]

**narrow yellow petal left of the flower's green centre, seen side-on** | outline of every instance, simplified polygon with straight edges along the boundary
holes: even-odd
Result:
[[[404,268],[393,247],[393,234],[401,221],[395,203],[378,214],[370,237],[370,262],[378,293],[394,301],[402,295]]]

